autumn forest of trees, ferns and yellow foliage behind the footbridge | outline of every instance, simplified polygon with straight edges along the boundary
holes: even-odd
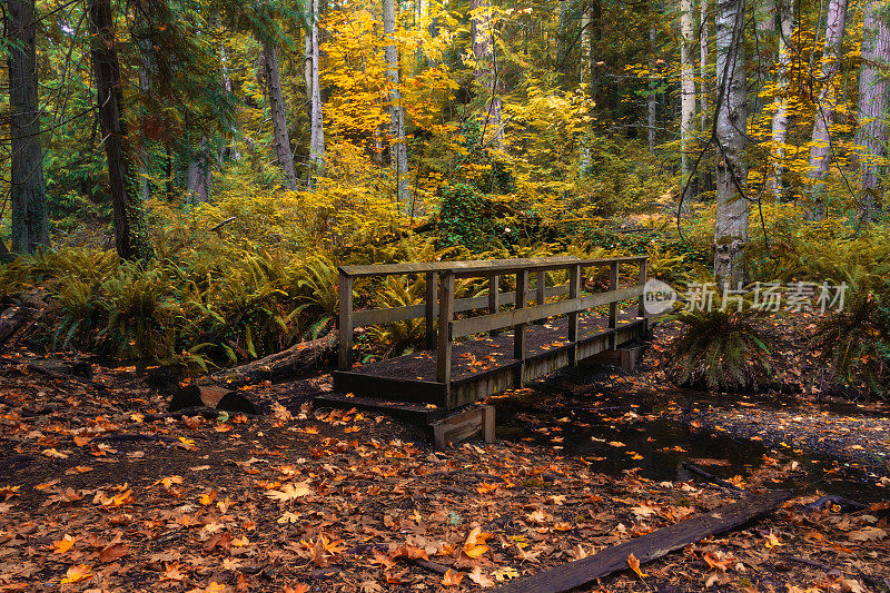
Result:
[[[647,253],[672,283],[847,281],[813,339],[843,385],[886,391],[883,0],[9,0],[3,17],[0,299],[46,291],[34,348],[200,373],[325,334],[338,265]],[[365,288],[359,306],[423,298]],[[753,335],[725,317],[686,322]],[[403,322],[359,347],[422,336]],[[748,364],[754,337],[720,356]]]

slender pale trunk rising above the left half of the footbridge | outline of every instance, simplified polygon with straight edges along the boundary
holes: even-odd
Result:
[[[396,45],[396,0],[383,0],[383,32],[386,37],[386,76],[389,79],[389,155],[396,166],[396,201],[405,211],[411,204],[408,190],[408,150],[405,145],[405,111],[398,80]]]

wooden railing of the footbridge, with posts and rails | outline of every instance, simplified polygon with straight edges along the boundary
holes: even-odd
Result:
[[[385,264],[369,266],[343,266],[339,268],[339,360],[340,370],[350,368],[349,353],[354,329],[376,324],[425,318],[426,344],[436,349],[436,380],[451,384],[452,344],[454,339],[474,334],[497,334],[502,329],[514,330],[514,358],[524,362],[527,357],[525,330],[527,324],[543,322],[557,315],[568,315],[568,343],[578,340],[578,315],[593,307],[609,305],[609,328],[617,326],[617,305],[621,300],[639,298],[640,317],[643,316],[643,285],[646,281],[646,256],[615,257],[609,259],[580,259],[577,257],[547,257],[528,259],[498,259],[469,261],[436,261],[411,264]],[[622,264],[639,265],[635,285],[619,287]],[[605,293],[582,296],[582,274],[585,268],[610,267],[610,286]],[[546,273],[566,270],[568,283],[546,286]],[[423,274],[426,279],[426,296],[423,303],[404,307],[372,310],[354,310],[353,288],[356,278]],[[530,287],[530,275],[536,277],[536,286]],[[501,277],[516,276],[516,290],[501,293]],[[487,278],[488,293],[471,298],[456,298],[457,278]],[[517,296],[518,295],[518,296]],[[565,300],[546,303],[547,298],[567,296]],[[534,299],[535,305],[528,302]],[[501,312],[501,306],[514,305]],[[455,314],[487,309],[486,315],[455,319]],[[614,334],[613,334],[614,340]],[[614,344],[613,344],[614,346]]]

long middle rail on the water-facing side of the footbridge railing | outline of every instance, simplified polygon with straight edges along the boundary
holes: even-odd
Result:
[[[518,324],[526,324],[537,319],[545,319],[547,317],[555,317],[557,315],[565,315],[567,313],[577,310],[585,310],[613,302],[636,298],[640,296],[641,290],[642,288],[640,286],[632,286],[630,288],[610,290],[609,293],[587,295],[581,298],[558,300],[556,303],[550,303],[540,307],[516,308],[513,310],[497,313],[495,315],[484,315],[467,319],[458,319],[452,323],[452,337],[458,338],[471,336],[473,334],[483,334],[492,329],[513,327]]]

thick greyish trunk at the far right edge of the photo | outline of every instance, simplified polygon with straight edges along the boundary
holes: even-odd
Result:
[[[859,217],[874,216],[878,180],[887,158],[887,118],[890,110],[890,8],[870,0],[862,22],[862,72],[859,78],[859,129],[856,144],[862,147],[862,196]]]

